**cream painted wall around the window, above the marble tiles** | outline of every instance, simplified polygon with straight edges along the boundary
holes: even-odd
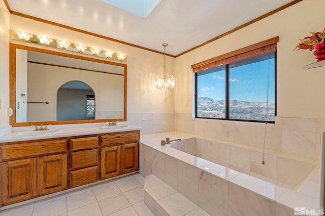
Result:
[[[277,44],[277,116],[325,117],[325,67],[304,70],[315,62],[308,50],[293,51],[310,31],[325,27],[323,0],[305,0],[176,59],[176,112],[192,112],[190,66],[274,36]]]

